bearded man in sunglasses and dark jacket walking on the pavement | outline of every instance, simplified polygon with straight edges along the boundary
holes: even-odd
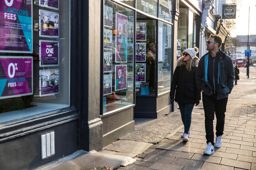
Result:
[[[214,153],[214,147],[220,148],[223,135],[225,112],[235,79],[230,56],[220,50],[222,40],[218,35],[210,35],[206,41],[209,51],[201,57],[196,70],[196,84],[202,92],[207,147],[204,154]],[[216,142],[214,144],[213,120],[217,119]]]

